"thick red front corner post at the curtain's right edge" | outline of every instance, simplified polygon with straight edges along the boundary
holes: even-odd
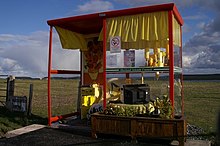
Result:
[[[168,12],[169,55],[170,55],[170,101],[174,109],[174,50],[173,50],[173,11]]]

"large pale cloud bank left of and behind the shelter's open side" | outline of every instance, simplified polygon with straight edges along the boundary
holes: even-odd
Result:
[[[0,73],[15,76],[47,76],[48,32],[30,35],[0,35]],[[56,33],[53,36],[53,68],[79,69],[79,55],[64,51]]]

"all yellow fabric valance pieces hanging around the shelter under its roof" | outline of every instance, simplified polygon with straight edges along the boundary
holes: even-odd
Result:
[[[180,25],[173,16],[174,44],[181,46]],[[55,26],[62,47],[87,51],[87,41],[83,34]],[[168,44],[168,12],[154,12],[107,18],[107,49],[110,37],[120,36],[123,49],[166,48]],[[102,41],[103,30],[99,35]]]

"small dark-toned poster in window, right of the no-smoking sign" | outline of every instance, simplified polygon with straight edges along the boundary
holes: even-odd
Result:
[[[124,67],[135,67],[135,50],[124,51]]]

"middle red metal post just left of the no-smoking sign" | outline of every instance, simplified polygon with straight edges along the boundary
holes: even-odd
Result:
[[[106,18],[103,19],[103,109],[106,108]]]

